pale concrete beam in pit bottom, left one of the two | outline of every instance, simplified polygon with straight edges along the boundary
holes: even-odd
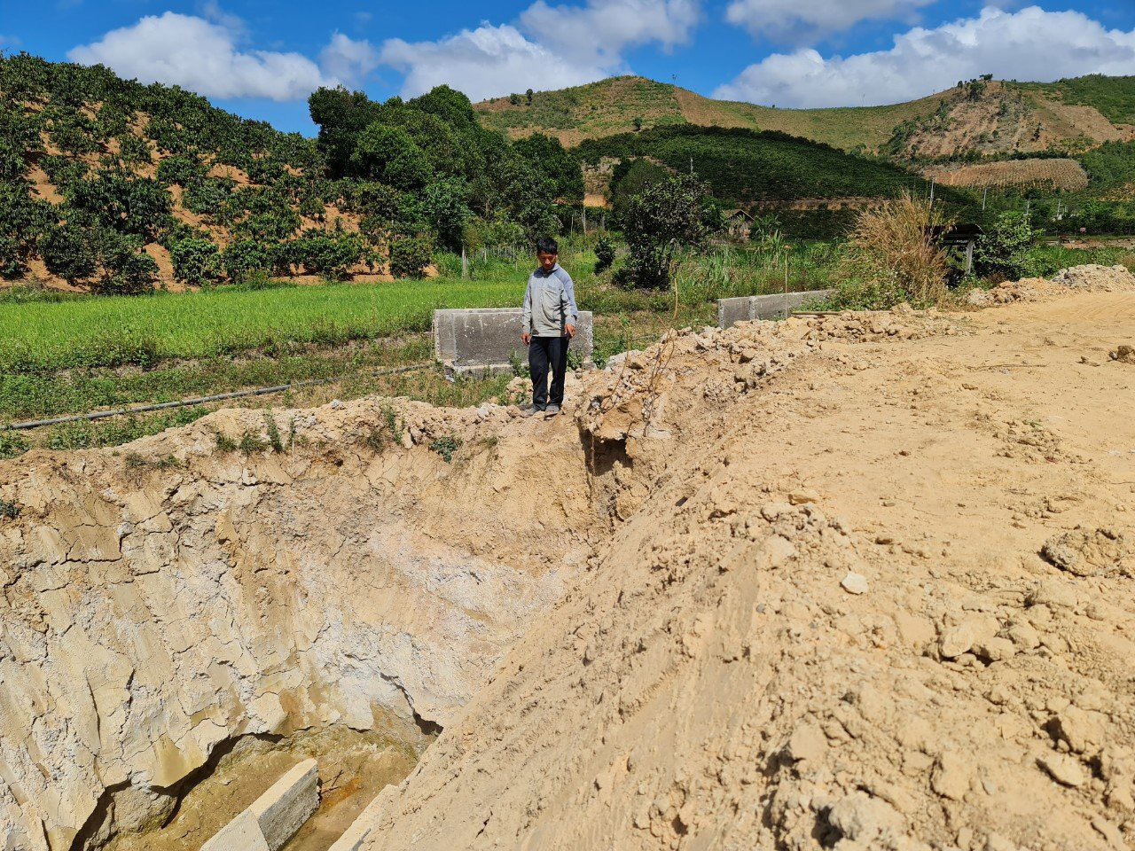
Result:
[[[222,827],[201,851],[279,851],[319,807],[314,759],[293,767]]]

